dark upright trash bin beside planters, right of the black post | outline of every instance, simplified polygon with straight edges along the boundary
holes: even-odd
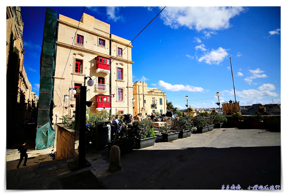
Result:
[[[96,150],[102,150],[110,142],[110,122],[99,121],[96,123]]]

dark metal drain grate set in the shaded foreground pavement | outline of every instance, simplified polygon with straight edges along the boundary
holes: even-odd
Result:
[[[108,189],[91,170],[61,178],[60,182],[65,190]]]

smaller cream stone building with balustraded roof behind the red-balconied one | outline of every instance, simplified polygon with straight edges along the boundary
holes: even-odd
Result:
[[[146,82],[133,83],[133,116],[141,113],[146,116],[152,112],[166,113],[166,95],[161,90],[149,88]]]

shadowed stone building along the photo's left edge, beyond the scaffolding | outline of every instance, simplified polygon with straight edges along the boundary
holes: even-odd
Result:
[[[21,8],[6,7],[6,124],[7,138],[10,132],[31,114],[31,90],[23,62],[23,28]]]

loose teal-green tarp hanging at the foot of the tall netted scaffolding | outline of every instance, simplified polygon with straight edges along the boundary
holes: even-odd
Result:
[[[36,149],[41,150],[54,145],[56,131],[52,128],[51,122],[47,122],[37,129]]]

